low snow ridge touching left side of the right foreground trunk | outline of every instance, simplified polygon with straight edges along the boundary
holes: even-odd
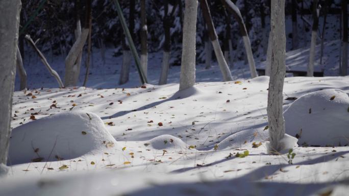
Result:
[[[217,150],[223,150],[223,149],[235,149],[235,148],[242,148],[245,146],[251,147],[253,142],[256,142],[257,144],[259,142],[264,142],[268,137],[268,131],[263,129],[247,129],[242,130],[236,133],[233,133],[223,139],[220,143],[218,143]],[[261,130],[261,131],[260,131]],[[212,148],[214,149],[214,148]]]

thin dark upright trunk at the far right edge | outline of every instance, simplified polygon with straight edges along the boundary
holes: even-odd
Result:
[[[347,74],[348,68],[348,13],[347,13],[347,0],[342,0],[342,16],[343,16],[343,43],[342,43],[342,70],[341,75]]]

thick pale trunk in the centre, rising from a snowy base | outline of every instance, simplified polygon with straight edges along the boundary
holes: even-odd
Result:
[[[185,0],[179,90],[190,88],[195,84],[196,17],[197,0]]]

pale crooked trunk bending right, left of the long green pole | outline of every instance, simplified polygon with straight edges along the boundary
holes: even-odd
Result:
[[[88,32],[89,29],[83,28],[81,35],[74,42],[67,57],[65,58],[65,87],[77,86],[77,81],[79,79],[77,72],[80,72],[80,67],[77,66],[76,62],[79,58],[79,55],[82,53],[83,47],[88,37]]]

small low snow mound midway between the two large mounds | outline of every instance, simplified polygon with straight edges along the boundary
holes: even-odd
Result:
[[[149,146],[155,150],[182,151],[187,145],[178,137],[172,135],[160,135],[148,141]]]

